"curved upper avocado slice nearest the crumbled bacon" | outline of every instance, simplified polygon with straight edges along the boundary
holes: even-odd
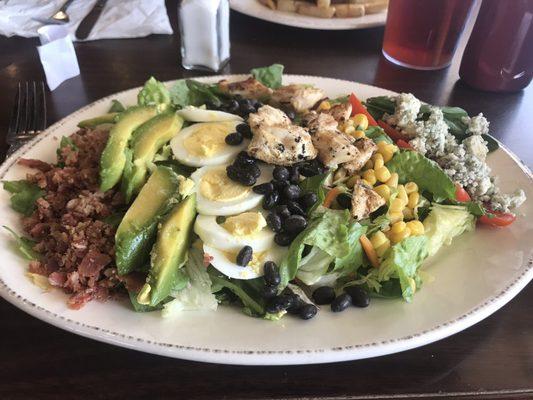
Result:
[[[135,129],[155,117],[155,107],[131,107],[120,114],[109,132],[109,139],[100,158],[100,190],[105,192],[115,186],[122,176],[126,156],[124,150]]]

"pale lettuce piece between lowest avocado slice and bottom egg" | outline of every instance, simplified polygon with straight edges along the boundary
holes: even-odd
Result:
[[[185,272],[189,276],[189,284],[174,294],[174,300],[163,306],[163,317],[169,317],[179,311],[215,311],[217,309],[217,299],[211,293],[211,278],[203,264],[202,253],[196,247],[189,250]]]

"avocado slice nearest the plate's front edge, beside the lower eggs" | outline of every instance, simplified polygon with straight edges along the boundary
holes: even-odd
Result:
[[[176,205],[159,227],[152,249],[151,269],[146,284],[137,297],[140,304],[153,307],[166,299],[176,286],[179,269],[187,261],[196,217],[196,195]]]

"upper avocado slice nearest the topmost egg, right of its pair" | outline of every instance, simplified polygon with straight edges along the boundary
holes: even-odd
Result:
[[[158,150],[179,132],[183,119],[175,112],[157,115],[139,126],[130,142],[133,151],[132,166],[122,177],[122,193],[129,202],[146,181],[148,164],[153,162]]]

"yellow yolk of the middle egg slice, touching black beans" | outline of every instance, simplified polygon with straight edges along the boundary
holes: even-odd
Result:
[[[252,188],[232,181],[226,174],[226,167],[220,166],[207,171],[200,181],[200,193],[211,201],[232,201],[250,194]]]

